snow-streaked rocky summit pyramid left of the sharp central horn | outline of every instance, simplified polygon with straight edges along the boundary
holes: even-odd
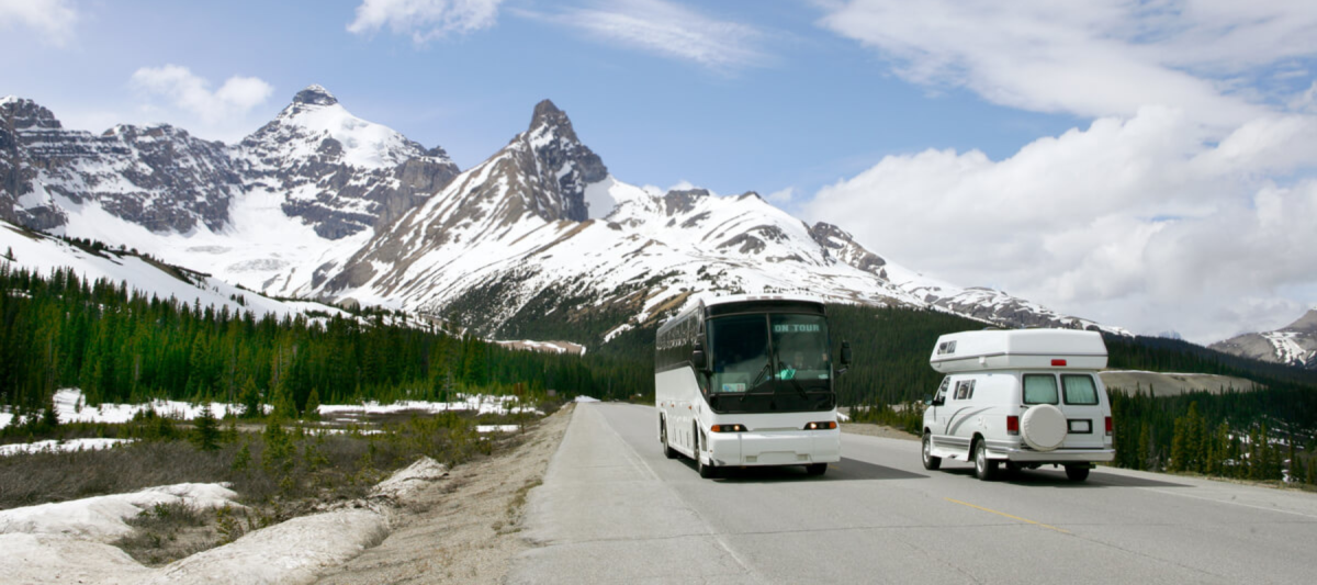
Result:
[[[457,175],[443,149],[352,116],[320,86],[242,140],[237,158],[253,188],[283,194],[283,212],[329,240],[398,219]]]

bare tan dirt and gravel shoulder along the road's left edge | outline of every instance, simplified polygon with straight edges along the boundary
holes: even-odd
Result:
[[[540,485],[573,404],[528,431],[518,448],[453,469],[399,514],[390,536],[321,584],[499,582],[528,548],[518,534],[525,494]]]

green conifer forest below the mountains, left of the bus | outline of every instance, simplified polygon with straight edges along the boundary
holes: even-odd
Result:
[[[124,283],[0,265],[0,404],[45,408],[79,387],[90,404],[151,398],[286,404],[453,399],[465,391],[599,395],[652,378],[607,356],[506,349],[362,316],[257,318],[148,298]],[[652,381],[649,382],[652,385]],[[249,408],[249,411],[254,411]]]

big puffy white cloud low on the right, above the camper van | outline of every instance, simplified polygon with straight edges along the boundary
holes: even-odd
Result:
[[[1217,142],[1183,111],[1150,107],[1004,161],[886,157],[805,215],[951,282],[1210,343],[1317,302],[1314,170],[1317,117],[1260,117]]]

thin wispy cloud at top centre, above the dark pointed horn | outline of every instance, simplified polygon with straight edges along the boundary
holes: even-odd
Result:
[[[765,61],[759,29],[665,0],[595,1],[544,18],[585,32],[595,40],[660,57],[726,71]]]

